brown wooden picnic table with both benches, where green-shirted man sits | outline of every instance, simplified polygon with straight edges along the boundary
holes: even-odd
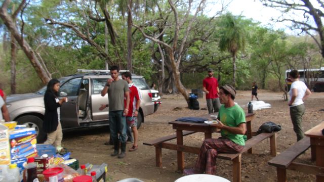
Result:
[[[256,134],[256,132],[252,132],[251,121],[254,118],[255,114],[246,114],[247,121],[247,136],[248,140],[246,141],[246,146],[241,153],[236,154],[227,154],[220,153],[217,155],[219,159],[231,160],[233,162],[233,181],[241,180],[241,154],[248,151],[248,153],[252,153],[252,147],[256,144],[262,142],[265,139],[270,138],[270,154],[272,156],[276,156],[276,132],[272,133],[260,133],[256,136],[252,136]],[[208,116],[208,115],[207,115]],[[204,116],[203,116],[204,117]],[[205,123],[190,123],[190,122],[182,122],[182,121],[172,121],[169,122],[173,125],[173,129],[176,129],[176,134],[172,134],[169,136],[164,136],[162,138],[154,139],[150,142],[144,142],[144,145],[154,146],[155,147],[155,157],[156,157],[156,166],[162,166],[162,148],[176,150],[177,151],[177,159],[178,159],[178,170],[183,171],[184,169],[184,155],[183,152],[189,152],[194,154],[199,154],[200,148],[191,147],[183,145],[183,136],[189,135],[195,132],[204,132],[205,139],[212,138],[212,132],[219,131],[215,126],[211,126]],[[168,141],[177,139],[177,144],[170,143]]]

